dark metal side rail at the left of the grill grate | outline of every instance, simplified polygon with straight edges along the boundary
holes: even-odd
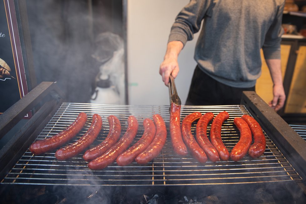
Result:
[[[0,115],[0,138],[29,111],[38,109],[27,123],[0,150],[0,180],[18,161],[24,151],[48,123],[64,101],[64,94],[54,82],[42,82]]]

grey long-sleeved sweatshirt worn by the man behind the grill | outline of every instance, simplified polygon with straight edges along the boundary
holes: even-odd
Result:
[[[284,0],[191,0],[177,15],[169,42],[184,45],[198,32],[194,59],[213,79],[238,88],[255,85],[265,59],[280,59]]]

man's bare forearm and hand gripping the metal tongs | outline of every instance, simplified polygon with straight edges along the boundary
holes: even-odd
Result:
[[[161,74],[166,86],[168,86],[170,74],[176,78],[180,70],[177,58],[183,47],[184,44],[181,41],[170,41],[167,44],[164,61],[161,63],[159,68],[159,74]]]

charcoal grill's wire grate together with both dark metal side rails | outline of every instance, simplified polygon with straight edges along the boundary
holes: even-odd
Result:
[[[46,93],[47,92],[47,93]],[[61,94],[54,83],[43,82],[29,93],[34,101],[46,101],[29,120],[25,128],[17,133],[12,141],[1,151],[1,185],[63,185],[63,186],[224,186],[239,184],[287,184],[294,183],[305,193],[305,148],[303,140],[287,123],[285,123],[255,92],[244,92],[241,105],[230,106],[182,106],[181,120],[192,112],[213,112],[217,115],[226,110],[230,118],[222,125],[222,140],[230,151],[239,140],[239,131],[233,123],[235,117],[243,114],[252,115],[263,127],[267,147],[263,156],[252,159],[245,156],[242,161],[207,161],[197,162],[191,155],[174,154],[169,138],[169,105],[100,105],[63,103]],[[23,106],[26,113],[36,105],[29,98],[21,99],[13,109]],[[9,110],[8,110],[9,111]],[[82,154],[67,161],[57,161],[51,151],[34,156],[28,149],[34,140],[51,137],[70,125],[79,112],[86,112],[89,119],[80,133],[70,141],[74,142],[90,126],[91,117],[97,113],[103,120],[102,130],[94,144],[102,142],[108,134],[107,117],[115,115],[121,122],[121,135],[127,128],[127,118],[134,115],[139,122],[139,130],[132,143],[142,136],[142,121],[160,114],[165,120],[168,138],[162,152],[146,165],[133,162],[128,166],[116,163],[101,171],[92,171]],[[19,115],[20,115],[19,114]],[[43,115],[43,116],[38,116]],[[5,125],[16,123],[18,117],[10,113],[1,115]],[[34,122],[33,122],[34,121]],[[3,126],[5,126],[3,125]],[[211,123],[207,131],[210,131]],[[29,128],[30,127],[30,128]],[[196,123],[192,124],[195,134]],[[2,127],[3,128],[3,127]],[[32,129],[30,131],[29,129]],[[4,130],[6,130],[4,128]],[[7,131],[7,130],[6,130]],[[5,134],[5,133],[4,133]]]

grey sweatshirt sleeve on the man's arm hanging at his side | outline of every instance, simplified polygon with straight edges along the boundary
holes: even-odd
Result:
[[[282,28],[282,17],[285,1],[279,6],[276,17],[271,24],[263,44],[265,59],[280,59],[280,43],[284,30]]]

